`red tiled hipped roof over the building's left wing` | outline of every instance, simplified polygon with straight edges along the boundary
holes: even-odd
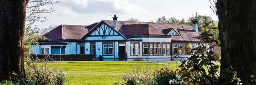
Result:
[[[46,38],[50,40],[59,40],[59,39],[81,39],[86,33],[86,26],[78,25],[60,25],[57,28],[51,30],[50,32],[44,34]]]

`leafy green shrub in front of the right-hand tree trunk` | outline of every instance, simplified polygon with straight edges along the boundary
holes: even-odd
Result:
[[[190,48],[187,47],[188,53],[191,57],[187,60],[182,61],[179,68],[180,74],[182,74],[183,80],[190,85],[218,85],[218,79],[224,78],[226,80],[225,84],[229,85],[239,85],[239,78],[236,78],[236,72],[231,70],[231,68],[225,69],[225,76],[219,77],[219,62],[220,56],[212,51],[215,46],[220,46],[218,36],[214,36],[207,30],[217,29],[210,28],[210,24],[213,21],[205,23],[203,26],[203,33],[200,34],[204,38],[198,42],[198,47]],[[207,46],[209,45],[209,46]],[[179,58],[176,56],[174,58]]]

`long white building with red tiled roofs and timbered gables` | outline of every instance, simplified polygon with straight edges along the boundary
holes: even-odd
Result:
[[[150,23],[102,20],[89,26],[60,25],[44,34],[31,53],[96,54],[106,61],[145,58],[149,61],[169,60],[180,55],[189,57],[186,44],[196,47],[199,41],[197,23]],[[193,43],[192,43],[193,42]],[[178,50],[178,47],[182,47]]]

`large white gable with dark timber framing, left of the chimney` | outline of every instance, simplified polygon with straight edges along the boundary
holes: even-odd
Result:
[[[114,28],[110,27],[105,22],[98,23],[87,33],[82,39],[85,40],[123,40],[126,39],[118,33]]]

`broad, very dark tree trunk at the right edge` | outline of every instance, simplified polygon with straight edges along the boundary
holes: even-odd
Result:
[[[256,1],[217,0],[222,70],[232,66],[243,84],[256,75]],[[223,84],[222,81],[220,81]]]

